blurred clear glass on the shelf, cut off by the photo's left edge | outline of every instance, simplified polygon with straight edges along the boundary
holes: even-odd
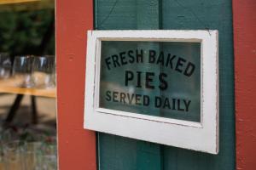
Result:
[[[0,54],[0,78],[9,78],[11,73],[11,59],[9,54],[1,53]]]

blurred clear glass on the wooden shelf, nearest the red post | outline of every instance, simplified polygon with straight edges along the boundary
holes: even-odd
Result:
[[[37,88],[55,88],[55,56],[36,56],[32,76]]]

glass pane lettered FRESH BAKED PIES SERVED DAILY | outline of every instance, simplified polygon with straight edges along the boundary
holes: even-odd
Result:
[[[201,42],[102,41],[100,107],[201,122]]]

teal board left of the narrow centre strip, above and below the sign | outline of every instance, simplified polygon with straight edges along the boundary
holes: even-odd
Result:
[[[96,0],[96,29],[137,29],[136,3],[136,0]],[[137,140],[98,133],[98,167],[100,170],[137,170]]]

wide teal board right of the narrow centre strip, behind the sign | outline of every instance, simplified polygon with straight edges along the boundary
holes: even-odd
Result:
[[[219,37],[218,156],[164,146],[165,170],[236,169],[231,0],[164,0],[163,29],[212,29]],[[203,141],[202,141],[203,142]]]

